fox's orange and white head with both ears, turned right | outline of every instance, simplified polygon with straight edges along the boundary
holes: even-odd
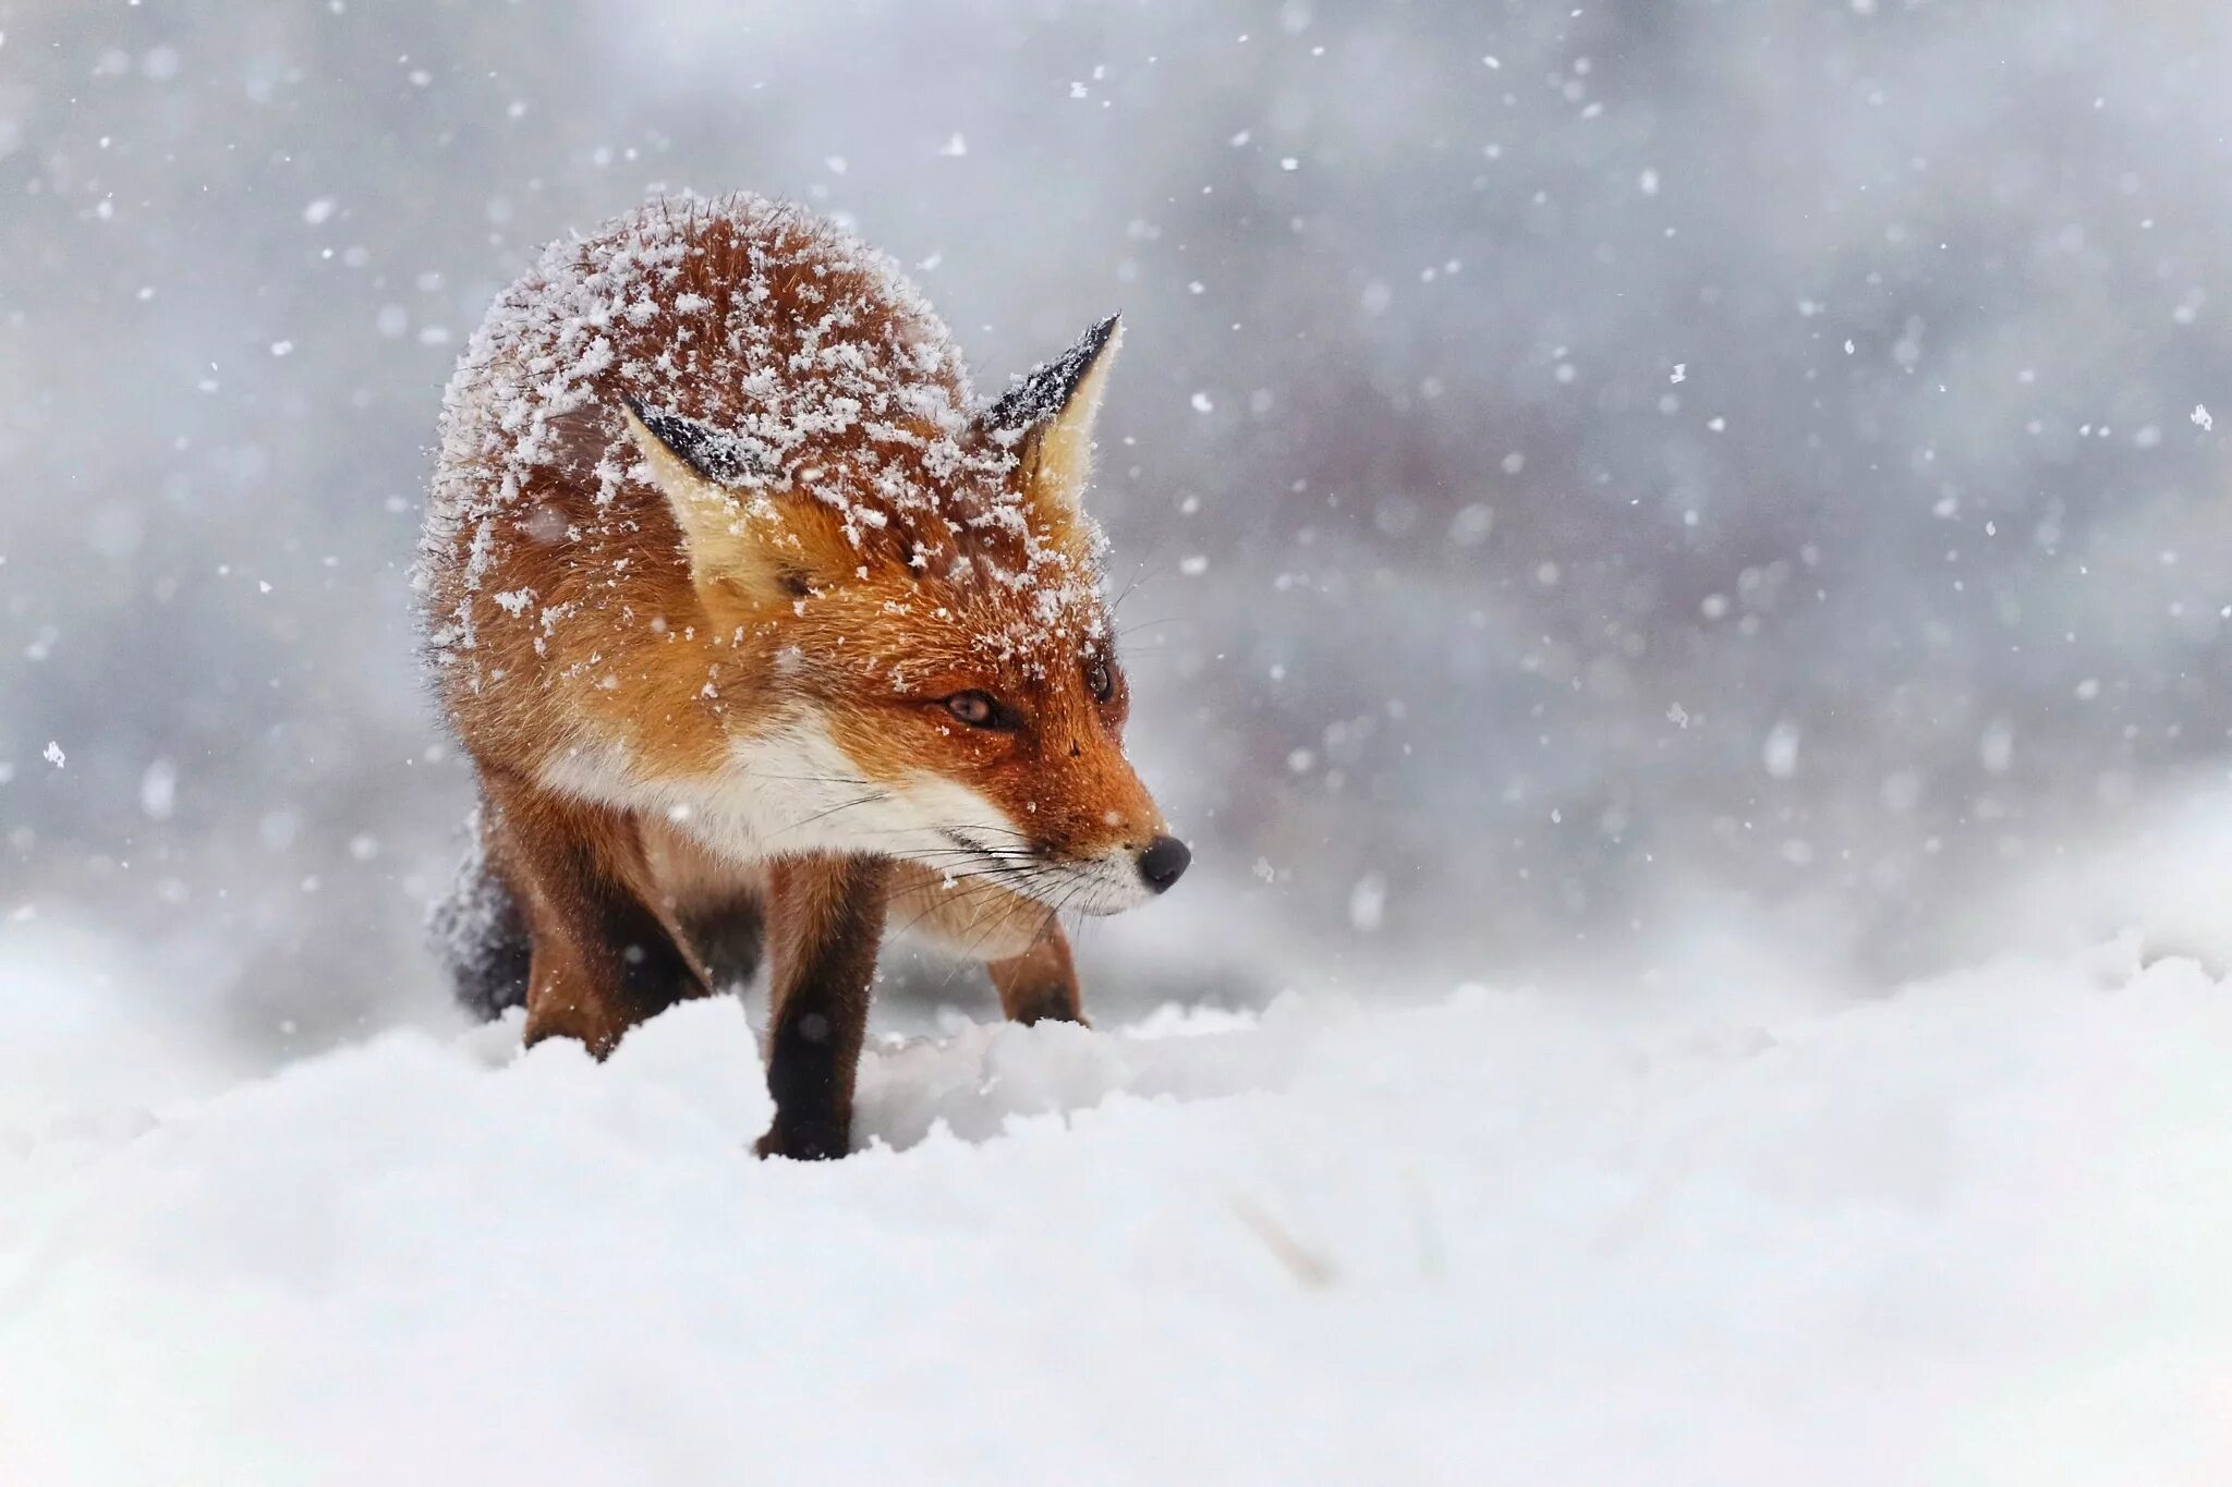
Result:
[[[1083,508],[1116,346],[1103,321],[984,410],[929,388],[850,441],[627,410],[716,647],[723,767],[786,805],[770,847],[913,858],[1091,914],[1185,872],[1123,751]]]

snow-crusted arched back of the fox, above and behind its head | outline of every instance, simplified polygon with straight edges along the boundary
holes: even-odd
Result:
[[[737,230],[712,239],[723,261],[730,243],[754,245],[734,256],[743,272],[705,285],[719,301],[679,288],[705,276],[694,261],[710,225]],[[768,308],[795,299],[817,312]],[[652,357],[620,357],[618,339],[661,323],[676,332]],[[721,377],[708,377],[712,368]],[[536,470],[578,457],[565,419],[583,410],[605,415],[607,446],[589,464],[609,502],[625,473],[609,459],[620,448],[616,408],[594,399],[612,375],[654,406],[734,410],[723,433],[772,468],[788,468],[801,446],[839,441],[879,468],[879,444],[908,439],[902,424],[960,435],[971,397],[960,352],[922,292],[828,216],[750,192],[652,201],[545,247],[473,332],[442,399],[429,540],[482,522]],[[960,448],[944,459],[960,464]]]

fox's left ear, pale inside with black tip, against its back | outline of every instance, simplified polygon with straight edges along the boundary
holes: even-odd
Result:
[[[743,435],[629,401],[627,433],[667,497],[701,591],[719,586],[759,602],[815,589],[806,533],[770,495],[775,459]]]

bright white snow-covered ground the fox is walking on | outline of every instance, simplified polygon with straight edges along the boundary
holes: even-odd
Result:
[[[828,1166],[734,1001],[507,1034],[0,1139],[7,1480],[2232,1480],[2194,963],[973,1028]]]

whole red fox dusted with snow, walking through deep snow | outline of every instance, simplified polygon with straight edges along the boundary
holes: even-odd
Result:
[[[783,1157],[850,1146],[886,923],[1083,1021],[1058,914],[1190,861],[1080,504],[1118,339],[980,406],[886,256],[759,196],[542,252],[449,383],[415,577],[480,780],[466,1001],[603,1057],[766,945]]]

